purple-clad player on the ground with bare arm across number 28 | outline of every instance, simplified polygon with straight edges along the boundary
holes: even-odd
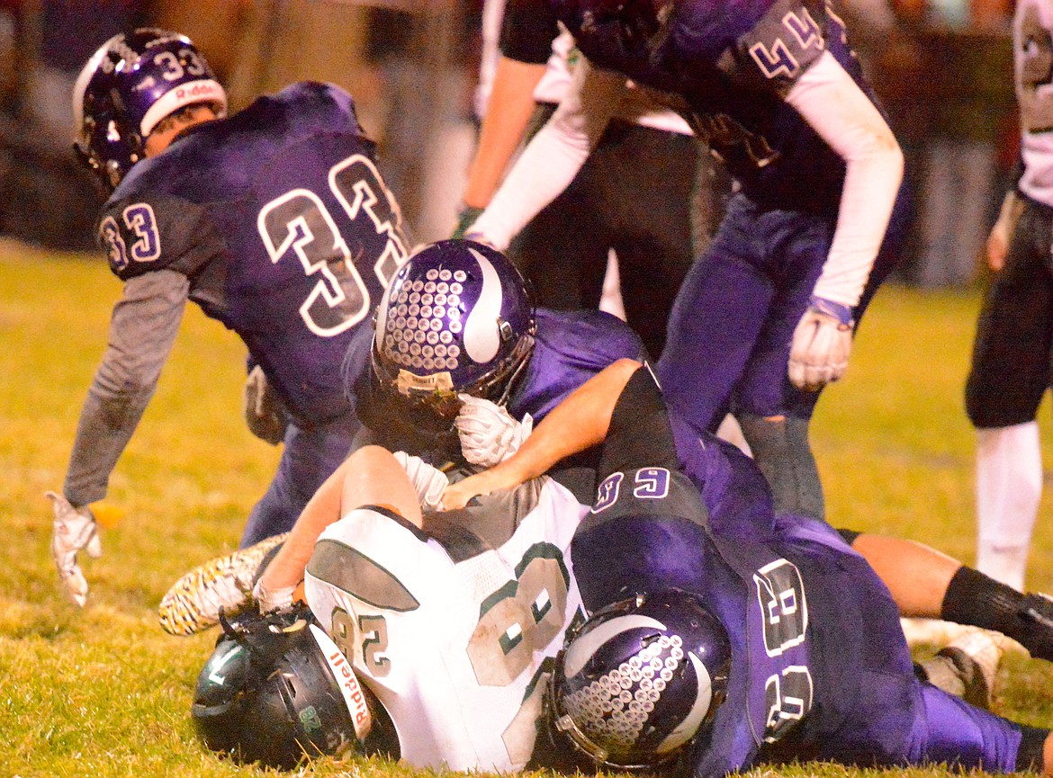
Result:
[[[874,571],[826,522],[773,512],[744,456],[729,446],[699,494],[680,423],[650,372],[619,362],[445,491],[453,508],[603,446],[570,548],[589,618],[556,659],[531,766],[575,766],[570,742],[582,767],[697,778],[808,759],[1053,774],[1048,729],[919,680]]]

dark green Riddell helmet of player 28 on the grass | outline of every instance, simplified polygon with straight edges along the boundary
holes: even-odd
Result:
[[[302,603],[222,619],[223,634],[191,707],[206,747],[238,762],[289,770],[304,756],[364,752],[380,731],[394,734],[379,701],[313,621]],[[374,712],[381,718],[375,733]]]

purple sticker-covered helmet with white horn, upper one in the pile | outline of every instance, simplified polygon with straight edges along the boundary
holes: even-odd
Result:
[[[457,395],[498,404],[534,346],[522,276],[500,252],[443,240],[411,256],[377,307],[373,372],[382,387],[440,416]]]

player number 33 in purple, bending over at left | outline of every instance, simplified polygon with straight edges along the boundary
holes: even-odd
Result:
[[[63,494],[48,493],[52,551],[83,605],[77,553],[100,551],[88,505],[106,494],[187,300],[241,337],[254,385],[271,393],[260,406],[281,410],[269,434],[284,450],[244,530],[252,544],[289,528],[345,457],[358,425],[340,362],[406,240],[374,143],[336,86],[296,83],[226,117],[194,44],[145,28],[99,47],[73,103],[75,148],[110,192],[98,239],[123,282]]]

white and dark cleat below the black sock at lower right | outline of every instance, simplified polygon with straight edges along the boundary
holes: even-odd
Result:
[[[919,662],[926,680],[966,702],[990,710],[998,664],[1005,654],[1002,636],[988,630],[963,632]]]

